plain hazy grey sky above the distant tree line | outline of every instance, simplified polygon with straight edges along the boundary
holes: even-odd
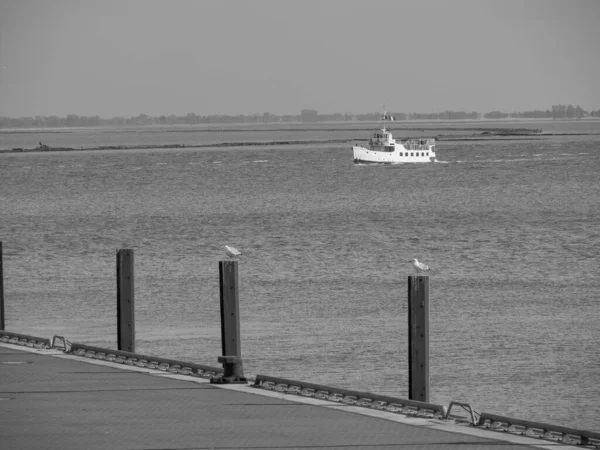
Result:
[[[0,116],[600,109],[600,0],[0,0]]]

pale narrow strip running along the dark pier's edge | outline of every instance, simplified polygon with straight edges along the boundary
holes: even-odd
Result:
[[[14,348],[13,346],[11,346],[11,344],[4,344],[4,343],[0,343],[0,347]],[[205,378],[190,377],[188,375],[179,375],[179,374],[163,372],[163,371],[158,371],[158,370],[154,371],[154,370],[151,370],[151,369],[149,370],[149,369],[143,368],[143,367],[129,366],[129,365],[125,365],[125,364],[115,365],[115,363],[113,363],[113,362],[102,361],[102,360],[92,359],[92,358],[85,358],[85,357],[71,355],[71,354],[65,354],[62,350],[35,349],[35,348],[30,348],[30,347],[18,347],[18,348],[16,348],[16,350],[21,350],[21,351],[25,351],[25,352],[29,352],[29,353],[35,353],[35,354],[43,355],[43,356],[52,356],[55,358],[71,359],[71,360],[74,359],[74,360],[77,360],[77,361],[80,361],[83,363],[111,367],[113,369],[129,370],[132,372],[143,373],[143,374],[147,374],[147,375],[151,375],[151,376],[159,376],[161,378],[170,378],[170,379],[174,379],[174,380],[187,381],[190,383],[197,383],[197,384],[210,384],[210,380],[205,379]],[[288,402],[302,403],[302,404],[306,404],[306,405],[329,408],[331,410],[345,411],[345,412],[349,412],[349,413],[353,413],[353,414],[359,414],[359,415],[363,415],[363,416],[379,418],[379,419],[388,420],[388,421],[392,421],[392,422],[398,422],[398,423],[402,423],[405,425],[412,425],[415,427],[426,427],[428,429],[445,431],[445,432],[450,432],[450,433],[454,433],[454,434],[475,436],[475,437],[479,437],[482,439],[492,440],[492,441],[497,441],[497,442],[508,442],[508,443],[512,443],[512,444],[521,444],[521,445],[528,446],[530,448],[540,448],[540,449],[544,449],[544,450],[563,450],[563,449],[567,450],[567,449],[581,449],[582,448],[581,446],[578,446],[575,444],[568,445],[568,444],[562,444],[560,442],[550,442],[550,441],[538,442],[538,440],[534,437],[520,436],[517,434],[502,433],[501,436],[498,436],[500,434],[500,432],[494,432],[492,430],[471,427],[471,426],[467,426],[464,424],[461,425],[461,424],[453,423],[453,422],[447,422],[447,423],[444,422],[443,423],[443,422],[437,421],[435,419],[430,419],[430,418],[404,416],[402,414],[395,414],[395,413],[391,413],[388,411],[363,408],[360,406],[353,406],[353,405],[347,405],[347,404],[341,405],[339,403],[334,403],[334,402],[327,401],[327,400],[320,400],[320,399],[311,398],[311,397],[303,397],[300,395],[290,395],[290,394],[284,394],[281,392],[268,391],[265,389],[252,387],[249,384],[210,384],[210,387],[214,387],[215,389],[228,389],[231,391],[244,392],[246,394],[254,394],[254,395],[260,395],[263,397],[276,398],[276,399],[284,400],[286,403],[288,403]],[[87,391],[81,391],[81,392],[87,392]]]

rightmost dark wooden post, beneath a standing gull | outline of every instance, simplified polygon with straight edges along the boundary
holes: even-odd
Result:
[[[429,277],[408,277],[408,398],[429,403]]]

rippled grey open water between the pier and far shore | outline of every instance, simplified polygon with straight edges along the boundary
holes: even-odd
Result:
[[[375,126],[0,130],[0,149],[84,149],[0,153],[6,329],[116,348],[115,254],[132,248],[136,350],[218,367],[229,244],[247,377],[408,397],[416,257],[432,267],[432,403],[600,431],[600,121],[422,124],[553,134],[441,140],[418,165],[355,165],[350,142],[85,150]],[[420,135],[406,126],[390,128]]]

